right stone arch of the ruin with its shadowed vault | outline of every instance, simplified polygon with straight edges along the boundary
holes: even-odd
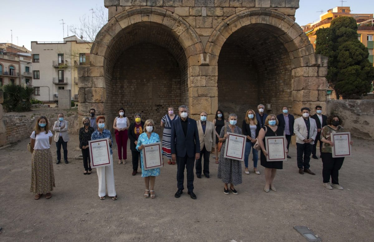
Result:
[[[258,42],[254,40],[255,38],[257,38]],[[283,13],[271,9],[246,9],[225,19],[215,28],[206,44],[205,52],[209,65],[216,66],[218,69],[216,80],[220,92],[225,90],[227,86],[234,86],[233,81],[230,80],[227,81],[226,85],[220,85],[223,82],[222,76],[224,76],[225,70],[220,68],[219,62],[225,60],[225,52],[229,50],[230,44],[233,48],[230,49],[232,53],[235,52],[235,46],[242,49],[242,51],[237,51],[238,55],[241,55],[237,60],[238,65],[242,65],[240,67],[242,70],[244,65],[255,65],[253,72],[246,70],[245,74],[244,72],[242,73],[243,76],[251,74],[261,76],[263,79],[274,81],[276,83],[275,86],[282,89],[281,91],[263,90],[263,93],[269,94],[269,96],[276,93],[272,98],[266,97],[265,94],[261,96],[261,90],[257,89],[255,92],[260,93],[259,96],[262,98],[258,97],[256,100],[239,98],[240,102],[245,104],[241,109],[239,108],[235,111],[242,113],[244,109],[255,109],[257,104],[261,102],[272,105],[270,112],[278,113],[282,105],[287,105],[293,109],[293,112],[298,114],[301,106],[314,106],[316,102],[320,103],[326,100],[325,75],[327,73],[327,58],[314,54],[313,46],[300,26]],[[245,57],[244,53],[246,53],[247,57]],[[253,55],[254,58],[246,63],[240,61],[251,59],[248,55]],[[226,59],[224,66],[229,68],[227,62],[230,60],[230,63],[232,63],[234,57]],[[282,65],[270,66],[263,64],[264,62],[274,62],[276,60],[281,61]],[[237,68],[238,65],[233,68]],[[261,68],[264,70],[263,72],[260,72]],[[275,74],[281,72],[282,75]],[[274,75],[269,76],[271,73]],[[238,76],[238,71],[235,74],[235,76]],[[281,80],[277,80],[278,78]],[[266,80],[257,78],[256,85],[269,86],[267,85],[268,83],[264,82]],[[240,83],[240,81],[238,82]],[[243,82],[241,83],[244,84]],[[245,89],[246,87],[242,86],[242,88]],[[252,89],[253,87],[249,88]],[[243,94],[246,95],[245,92]],[[218,99],[220,99],[220,96],[223,95],[218,93]],[[218,101],[218,106],[222,106],[221,104],[224,102],[227,103],[227,100]],[[246,103],[250,103],[250,105]],[[238,103],[229,103],[227,108],[236,107],[237,105]],[[246,108],[244,107],[245,105]]]

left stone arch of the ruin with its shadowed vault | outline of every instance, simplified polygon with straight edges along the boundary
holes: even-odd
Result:
[[[126,61],[126,58],[134,58],[134,61],[139,63],[140,60],[135,58],[135,52],[131,50],[132,47],[144,50],[150,47],[149,45],[158,48],[148,48],[152,53],[142,53],[146,58],[153,58],[152,55],[159,51],[157,52],[159,55],[165,55],[168,58],[168,63],[175,67],[170,72],[175,75],[165,77],[165,80],[181,80],[180,89],[183,89],[184,94],[181,95],[181,100],[178,100],[178,105],[186,102],[189,105],[189,66],[196,60],[202,59],[203,53],[199,36],[183,18],[169,10],[159,7],[133,7],[115,15],[99,31],[91,48],[90,67],[86,69],[79,67],[79,115],[85,115],[86,111],[93,106],[97,114],[108,116],[107,124],[111,127],[113,120],[111,117],[116,114],[118,106],[115,100],[118,95],[115,94],[115,91],[118,87],[123,88],[118,84],[120,81],[118,71],[132,64],[132,62]],[[178,71],[176,68],[179,68]],[[128,73],[121,73],[126,76],[126,81],[143,78],[129,76]],[[160,79],[162,79],[160,75],[155,78],[155,80]],[[146,88],[154,91],[154,88],[150,86]],[[178,84],[175,88],[178,89]],[[128,103],[129,105],[134,104],[133,102]],[[165,101],[164,104],[152,103],[152,105],[157,106],[158,109],[152,112],[147,111],[145,118],[157,119],[157,123],[159,123],[159,117],[152,117],[152,114],[158,112],[163,114],[165,110],[160,111],[159,109],[170,104]],[[175,105],[177,105],[177,101]],[[139,111],[144,111],[144,105],[140,105],[139,109]],[[128,115],[132,115],[131,111]]]

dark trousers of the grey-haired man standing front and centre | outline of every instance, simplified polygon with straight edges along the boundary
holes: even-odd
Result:
[[[183,190],[184,186],[184,167],[187,170],[187,189],[193,191],[193,166],[195,163],[195,157],[188,157],[187,154],[184,157],[177,156],[177,186],[178,189]]]

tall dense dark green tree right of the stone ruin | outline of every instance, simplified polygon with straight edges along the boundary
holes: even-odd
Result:
[[[332,20],[329,28],[316,32],[316,54],[327,56],[327,81],[337,97],[357,99],[370,91],[374,80],[368,48],[357,35],[357,23],[351,17]]]

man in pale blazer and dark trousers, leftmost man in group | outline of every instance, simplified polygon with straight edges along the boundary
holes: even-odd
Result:
[[[62,149],[64,150],[64,160],[65,164],[68,164],[68,141],[70,140],[68,134],[68,121],[64,120],[64,114],[58,114],[58,120],[53,125],[53,131],[55,133],[55,142],[57,148],[57,162],[56,164],[60,164],[61,162],[61,145]]]

